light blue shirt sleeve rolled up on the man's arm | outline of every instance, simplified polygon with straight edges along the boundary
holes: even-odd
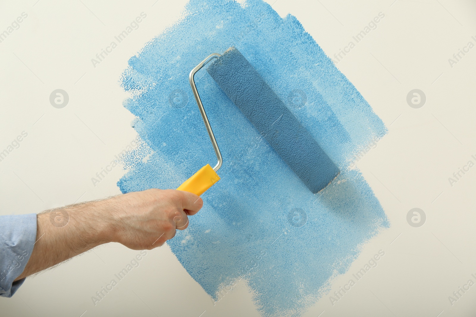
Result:
[[[0,216],[0,296],[11,297],[25,279],[20,276],[36,241],[36,213]]]

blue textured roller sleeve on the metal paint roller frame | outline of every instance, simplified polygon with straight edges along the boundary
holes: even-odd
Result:
[[[311,192],[337,177],[337,166],[238,49],[229,48],[207,71]]]

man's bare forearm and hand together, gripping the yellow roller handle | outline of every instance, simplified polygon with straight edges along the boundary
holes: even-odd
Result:
[[[21,275],[50,268],[100,244],[119,242],[134,250],[153,249],[188,227],[202,208],[190,192],[149,189],[96,202],[44,211],[37,216],[37,241]]]

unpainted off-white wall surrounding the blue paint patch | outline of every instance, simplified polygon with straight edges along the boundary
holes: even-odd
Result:
[[[81,2],[82,1],[82,2]],[[116,167],[99,184],[91,177],[135,138],[121,103],[118,79],[144,43],[177,20],[184,0],[30,0],[0,3],[0,32],[28,17],[0,43],[0,151],[28,136],[0,162],[1,214],[39,212],[119,194]],[[364,246],[344,286],[378,250],[385,251],[345,296],[321,298],[306,316],[472,316],[476,286],[453,306],[453,291],[476,279],[476,167],[451,186],[448,178],[476,157],[476,48],[450,67],[459,48],[476,44],[476,3],[471,0],[270,0],[291,13],[333,56],[379,12],[385,19],[337,67],[389,127],[389,134],[357,166],[374,189],[392,227]],[[273,3],[274,2],[274,3]],[[128,38],[93,67],[94,58],[140,12]],[[471,38],[475,36],[475,39]],[[64,89],[69,103],[51,106]],[[421,89],[426,104],[406,96]],[[407,223],[421,208],[426,223]],[[193,224],[192,224],[193,225]],[[140,266],[96,306],[91,296],[138,251],[108,244],[27,279],[13,298],[0,298],[1,316],[258,316],[246,285],[213,305],[167,246],[147,252]]]

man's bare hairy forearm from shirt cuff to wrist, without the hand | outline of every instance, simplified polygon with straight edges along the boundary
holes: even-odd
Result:
[[[113,200],[87,202],[44,211],[37,216],[37,236],[20,276],[50,268],[100,244],[110,242]]]

